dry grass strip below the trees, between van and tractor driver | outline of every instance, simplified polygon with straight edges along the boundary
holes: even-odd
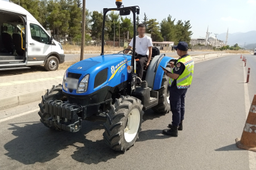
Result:
[[[81,47],[78,45],[63,45],[63,49],[65,54],[80,54],[81,51]],[[101,50],[101,46],[85,46],[84,54],[100,53]],[[104,50],[106,54],[112,54],[113,52],[120,52],[124,50],[124,47],[105,46]]]

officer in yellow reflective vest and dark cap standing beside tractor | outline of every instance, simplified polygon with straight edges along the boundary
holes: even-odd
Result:
[[[179,42],[174,48],[180,56],[177,63],[171,63],[172,72],[163,69],[166,76],[170,77],[170,106],[172,111],[172,124],[168,125],[170,129],[163,130],[163,134],[178,137],[178,130],[183,129],[185,94],[192,82],[194,60],[187,54],[189,45],[186,42]]]

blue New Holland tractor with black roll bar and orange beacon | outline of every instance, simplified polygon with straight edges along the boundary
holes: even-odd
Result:
[[[141,84],[136,83],[136,52],[127,49],[118,54],[104,55],[105,18],[108,11],[119,11],[121,16],[132,12],[136,45],[136,14],[139,6],[103,9],[102,54],[71,65],[63,83],[53,86],[42,96],[39,104],[40,121],[48,128],[78,132],[82,120],[103,120],[105,143],[114,150],[125,152],[139,137],[143,114],[152,109],[165,114],[170,110],[168,81],[162,67],[171,70],[172,57],[160,55],[153,48],[153,56],[144,71]]]

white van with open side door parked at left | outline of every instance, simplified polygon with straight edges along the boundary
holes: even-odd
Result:
[[[65,59],[56,42],[26,9],[0,0],[0,70],[44,65],[55,71]]]

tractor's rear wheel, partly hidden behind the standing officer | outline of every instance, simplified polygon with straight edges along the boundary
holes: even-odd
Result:
[[[166,69],[172,71],[169,64],[166,66]],[[170,77],[163,74],[161,89],[158,90],[158,105],[152,108],[156,113],[166,114],[170,111],[169,79]]]

